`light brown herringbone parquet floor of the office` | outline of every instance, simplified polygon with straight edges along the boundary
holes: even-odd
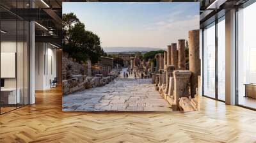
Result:
[[[202,98],[201,111],[62,112],[60,88],[0,116],[0,142],[256,142],[256,112]]]

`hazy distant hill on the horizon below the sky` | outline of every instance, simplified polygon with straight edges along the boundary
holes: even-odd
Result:
[[[103,47],[105,52],[148,52],[152,50],[163,50],[152,47]]]

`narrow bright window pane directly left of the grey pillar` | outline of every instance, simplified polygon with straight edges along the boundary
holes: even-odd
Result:
[[[218,22],[218,99],[225,101],[225,17]]]

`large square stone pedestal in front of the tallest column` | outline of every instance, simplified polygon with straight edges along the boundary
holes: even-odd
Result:
[[[189,80],[191,72],[188,70],[176,70],[173,72],[174,76],[174,91],[172,100],[172,109],[179,110],[179,98],[189,97]]]

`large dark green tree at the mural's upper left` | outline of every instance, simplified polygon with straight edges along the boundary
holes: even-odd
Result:
[[[79,63],[90,59],[97,63],[100,56],[107,56],[100,46],[100,38],[87,31],[74,13],[63,14],[63,52]]]

